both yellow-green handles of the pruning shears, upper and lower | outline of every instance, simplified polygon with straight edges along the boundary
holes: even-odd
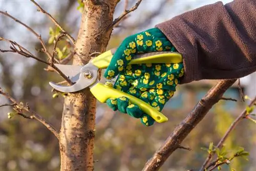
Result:
[[[109,66],[110,61],[113,57],[115,50],[109,50],[105,53],[97,56],[92,59],[91,62],[93,65],[100,69],[105,69]],[[139,63],[180,63],[182,62],[182,55],[177,52],[150,52],[145,54],[138,54],[133,57],[129,62],[132,64]],[[91,92],[100,102],[104,103],[107,99],[114,97],[127,97],[131,100],[132,103],[137,104],[142,111],[150,115],[157,122],[166,122],[168,120],[161,112],[157,111],[150,104],[147,104],[143,100],[140,100],[132,95],[116,90],[112,87],[104,85],[102,83],[97,83],[91,88]]]

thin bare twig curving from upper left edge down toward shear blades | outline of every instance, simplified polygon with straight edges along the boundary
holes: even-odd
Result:
[[[39,35],[38,33],[36,33],[31,27],[29,27],[28,25],[24,24],[23,22],[20,22],[20,20],[18,20],[17,18],[13,17],[12,15],[8,14],[7,12],[3,12],[0,11],[0,13],[4,14],[5,16],[8,16],[10,18],[12,18],[13,20],[15,20],[15,22],[23,25],[24,27],[26,27],[29,31],[31,31],[31,33],[33,33],[41,42],[42,47],[44,48],[44,52],[47,54],[48,58],[51,59],[52,55],[50,54],[50,52],[47,50],[46,44],[45,42],[42,40],[41,35]],[[59,63],[58,60],[55,59],[55,62]]]

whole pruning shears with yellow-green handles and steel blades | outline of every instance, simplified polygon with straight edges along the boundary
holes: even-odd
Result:
[[[168,118],[153,108],[150,104],[130,94],[114,89],[111,82],[102,82],[99,80],[98,70],[106,69],[109,66],[115,51],[116,49],[106,51],[91,59],[84,66],[54,64],[63,74],[68,76],[71,81],[75,83],[72,86],[61,86],[54,82],[49,82],[50,85],[57,91],[65,93],[77,92],[89,87],[96,99],[102,103],[105,103],[109,98],[119,98],[124,96],[129,98],[132,103],[137,104],[142,111],[150,115],[157,122],[166,122]],[[150,52],[135,55],[129,62],[129,65],[180,62],[182,62],[182,55],[177,52]]]

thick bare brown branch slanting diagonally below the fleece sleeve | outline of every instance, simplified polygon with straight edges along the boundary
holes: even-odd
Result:
[[[224,92],[236,82],[236,79],[222,80],[198,102],[187,117],[175,127],[173,133],[166,139],[164,144],[157,150],[153,157],[147,161],[143,170],[159,170],[166,159],[180,147],[181,142],[205,117],[211,107],[216,104]]]

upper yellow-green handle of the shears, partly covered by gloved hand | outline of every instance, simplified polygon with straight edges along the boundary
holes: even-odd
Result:
[[[93,65],[100,69],[108,68],[110,61],[115,53],[115,49],[106,51],[91,60]],[[150,52],[137,54],[129,62],[129,65],[140,63],[180,63],[182,55],[177,52]]]

